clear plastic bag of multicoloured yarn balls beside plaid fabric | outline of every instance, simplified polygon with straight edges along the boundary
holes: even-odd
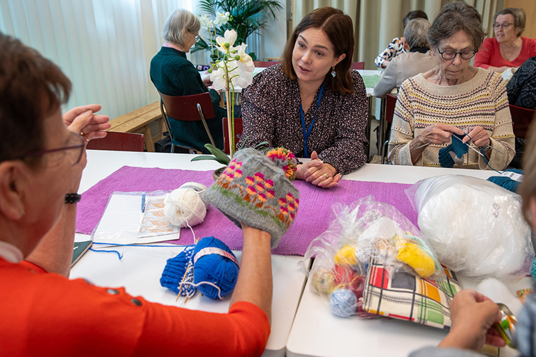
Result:
[[[304,260],[315,257],[311,287],[328,297],[335,315],[376,316],[362,310],[371,258],[385,264],[391,274],[401,269],[430,278],[444,274],[419,230],[390,204],[369,196],[349,206],[335,204],[333,211],[329,229],[312,240]]]

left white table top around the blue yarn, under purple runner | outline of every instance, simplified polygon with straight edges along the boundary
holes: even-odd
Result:
[[[134,153],[122,151],[87,151],[87,167],[84,170],[79,192],[115,172],[124,165],[137,167],[160,167],[165,169],[209,170],[221,167],[213,160],[191,163],[192,155],[178,153]],[[195,229],[195,227],[194,227]],[[76,240],[87,240],[87,235],[76,235]],[[155,245],[171,245],[155,243]],[[102,249],[93,246],[94,249]],[[88,251],[71,270],[71,279],[85,278],[96,285],[124,287],[133,295],[140,295],[148,301],[160,304],[181,306],[195,310],[226,313],[231,295],[221,301],[212,301],[197,294],[194,299],[183,304],[184,298],[177,302],[176,294],[160,286],[160,276],[166,260],[176,256],[183,247],[115,247],[124,258],[116,254]],[[240,260],[241,252],[235,251]],[[290,333],[294,314],[299,304],[305,283],[305,274],[299,261],[301,256],[272,256],[274,276],[274,299],[272,302],[271,335],[263,356],[285,356],[285,345]]]

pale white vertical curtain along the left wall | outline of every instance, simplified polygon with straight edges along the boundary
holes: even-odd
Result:
[[[193,0],[1,0],[0,31],[56,63],[73,82],[67,108],[99,103],[118,117],[158,100],[149,63],[162,26]],[[67,109],[65,108],[65,109]]]

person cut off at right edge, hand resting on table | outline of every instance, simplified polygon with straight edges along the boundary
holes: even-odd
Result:
[[[519,193],[525,219],[536,231],[536,121],[530,126],[527,138],[527,151],[523,157],[524,178]],[[452,327],[449,334],[437,348],[419,349],[410,354],[410,357],[478,357],[484,356],[477,352],[484,343],[505,347],[505,342],[493,327],[501,317],[499,306],[493,301],[474,290],[462,290],[454,295],[450,308]],[[536,356],[536,294],[526,297],[517,319],[514,343],[519,356]]]

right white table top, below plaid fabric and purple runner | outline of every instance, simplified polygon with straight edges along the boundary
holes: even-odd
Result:
[[[367,164],[344,178],[415,183],[422,178],[442,174],[488,178],[495,173],[472,169]],[[460,279],[460,283],[464,288],[476,286],[476,282],[467,279]],[[308,280],[290,331],[287,342],[289,357],[408,356],[410,351],[420,347],[437,345],[447,333],[444,330],[396,319],[337,317],[331,313],[327,299],[313,292],[310,285]],[[501,356],[512,353],[512,349],[501,349]]]

